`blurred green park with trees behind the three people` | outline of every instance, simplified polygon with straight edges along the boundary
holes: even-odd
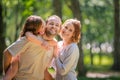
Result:
[[[53,14],[62,22],[81,21],[78,80],[120,80],[120,0],[0,0],[1,76],[3,51],[17,40],[25,19]]]

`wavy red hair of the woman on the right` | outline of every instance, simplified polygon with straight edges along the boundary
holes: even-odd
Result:
[[[67,22],[71,22],[75,29],[71,40],[73,42],[79,42],[79,40],[81,38],[81,23],[80,23],[80,21],[77,19],[68,19],[64,23],[67,23]]]

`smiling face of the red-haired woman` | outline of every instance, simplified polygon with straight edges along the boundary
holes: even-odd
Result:
[[[62,39],[70,41],[72,36],[74,35],[74,31],[75,29],[73,24],[71,22],[66,22],[62,26],[60,36]]]

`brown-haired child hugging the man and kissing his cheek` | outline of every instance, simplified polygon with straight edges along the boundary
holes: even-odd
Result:
[[[31,32],[32,34],[34,34],[36,36],[39,34],[42,34],[44,32],[44,25],[45,25],[45,22],[41,17],[36,16],[36,15],[29,16],[25,21],[25,24],[23,26],[23,29],[21,31],[19,39],[22,39],[22,37],[25,36],[26,32]],[[41,43],[42,43],[42,41],[41,41]],[[4,53],[5,53],[5,51],[4,51]],[[10,62],[7,62],[5,59],[6,57],[4,57],[3,67],[4,67],[5,76],[3,77],[3,80],[12,80],[14,78],[14,76],[16,75],[16,73],[18,71],[20,55],[22,55],[22,54],[18,54],[14,57],[10,57]]]

